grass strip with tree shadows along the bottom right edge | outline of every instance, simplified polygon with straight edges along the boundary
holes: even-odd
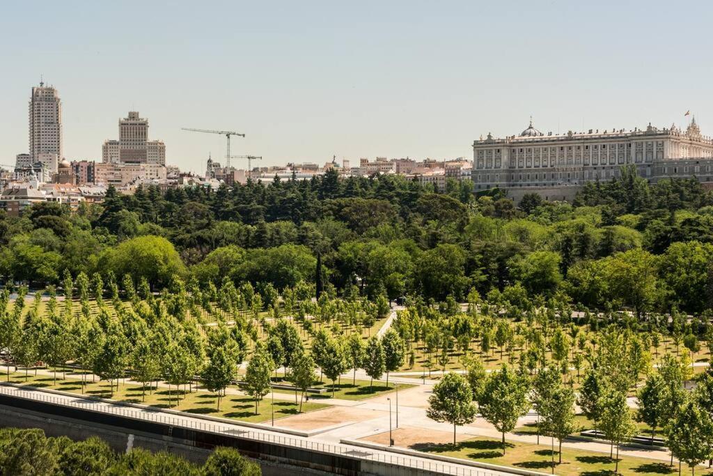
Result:
[[[540,472],[551,471],[552,450],[547,445],[506,441],[506,455],[503,456],[501,441],[493,438],[476,437],[453,445],[412,445],[414,450],[457,457],[464,460],[487,462],[493,465],[518,467]],[[615,450],[616,452],[616,450]],[[555,464],[558,461],[558,447],[555,440]],[[684,465],[685,466],[685,465]],[[688,467],[683,468],[689,471]],[[620,456],[619,472],[622,475],[673,475],[678,473],[677,465],[670,467],[667,462],[648,458]],[[614,473],[614,460],[600,452],[562,448],[562,464],[555,465],[555,474],[560,476],[599,476]],[[699,475],[710,475],[711,471],[702,467]]]

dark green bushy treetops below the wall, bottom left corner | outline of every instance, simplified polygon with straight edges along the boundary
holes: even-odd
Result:
[[[36,476],[260,476],[255,462],[230,447],[217,447],[202,466],[168,452],[140,448],[120,454],[98,437],[72,441],[42,430],[0,429],[0,474]]]

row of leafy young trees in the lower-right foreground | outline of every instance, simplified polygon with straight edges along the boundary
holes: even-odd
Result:
[[[605,366],[592,368],[575,393],[554,366],[530,374],[503,364],[500,370],[488,374],[474,359],[466,376],[446,373],[434,386],[427,415],[453,425],[456,445],[456,426],[473,422],[479,412],[501,432],[504,455],[506,432],[515,430],[518,419],[533,408],[538,414],[538,444],[540,435],[557,440],[561,463],[563,440],[582,429],[576,419],[576,403],[593,421],[597,435],[610,441],[615,472],[620,445],[637,433],[635,421],[650,427],[652,442],[656,431],[663,428],[672,465],[675,457],[694,472],[697,465],[713,457],[713,371],[700,375],[696,388],[689,392],[684,390],[687,368],[672,355],[666,355],[638,391],[635,412],[627,402],[630,384],[616,374],[605,370]]]

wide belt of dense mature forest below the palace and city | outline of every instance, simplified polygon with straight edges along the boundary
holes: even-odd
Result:
[[[300,281],[369,298],[558,297],[636,313],[702,313],[713,299],[713,194],[696,179],[649,184],[633,168],[574,203],[535,193],[438,193],[401,176],[248,182],[162,193],[110,188],[77,213],[56,203],[0,217],[0,275],[31,287],[129,274],[160,290],[173,275],[219,286]],[[317,260],[319,258],[319,277]],[[319,278],[319,279],[317,279]],[[119,278],[120,280],[120,278]]]

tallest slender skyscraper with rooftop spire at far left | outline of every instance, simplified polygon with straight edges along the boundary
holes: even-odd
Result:
[[[32,88],[29,103],[29,153],[31,161],[41,154],[62,157],[62,101],[57,90],[40,82]]]

